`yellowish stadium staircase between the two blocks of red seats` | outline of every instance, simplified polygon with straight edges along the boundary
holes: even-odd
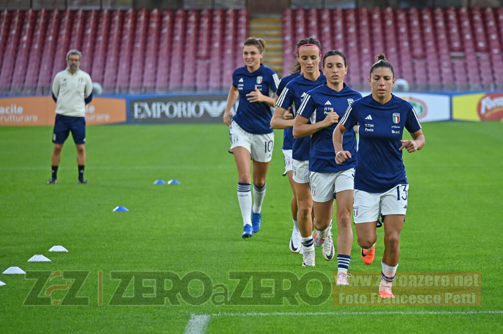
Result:
[[[264,65],[271,67],[280,78],[283,72],[283,33],[280,14],[257,14],[249,19],[249,34],[266,41]]]

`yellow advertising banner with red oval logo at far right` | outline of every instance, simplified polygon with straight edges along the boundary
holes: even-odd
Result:
[[[503,120],[503,93],[454,95],[452,119],[501,122]]]

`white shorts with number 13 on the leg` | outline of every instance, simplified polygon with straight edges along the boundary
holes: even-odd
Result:
[[[380,215],[407,212],[408,184],[400,184],[386,192],[366,192],[355,189],[353,216],[355,224],[377,221]]]

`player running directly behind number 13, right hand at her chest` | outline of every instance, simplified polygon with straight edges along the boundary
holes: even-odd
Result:
[[[351,213],[353,210],[354,168],[356,166],[356,137],[351,129],[344,134],[344,147],[352,158],[343,164],[336,164],[333,150],[333,129],[354,100],[362,95],[344,83],[348,73],[346,57],[341,51],[331,50],[323,57],[323,73],[326,84],[307,92],[297,111],[293,135],[295,138],[311,136],[309,150],[309,183],[313,199],[314,245],[323,245],[325,260],[333,257],[333,243],[330,236],[330,222],[333,215],[333,198],[337,200],[337,262],[338,285],[349,285],[348,266],[353,246]],[[308,124],[308,121],[311,124]],[[314,251],[312,252],[314,256]]]

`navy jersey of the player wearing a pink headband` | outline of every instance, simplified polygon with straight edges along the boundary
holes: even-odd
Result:
[[[281,92],[276,105],[287,109],[291,106],[293,115],[297,115],[297,108],[306,93],[316,86],[323,84],[326,81],[323,73],[320,73],[316,81],[304,78],[304,74],[288,82],[285,89]],[[309,141],[310,137],[294,138],[292,144],[292,158],[295,160],[309,160]]]

